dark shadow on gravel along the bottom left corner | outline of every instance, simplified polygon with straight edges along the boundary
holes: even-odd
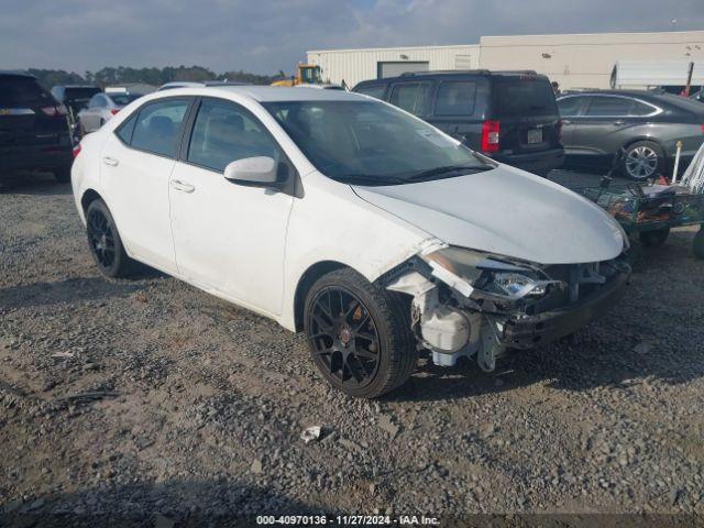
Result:
[[[0,526],[250,527],[258,524],[257,515],[322,513],[320,507],[268,487],[222,479],[218,482],[103,485],[72,494],[28,497],[24,502],[18,499],[3,505]]]

